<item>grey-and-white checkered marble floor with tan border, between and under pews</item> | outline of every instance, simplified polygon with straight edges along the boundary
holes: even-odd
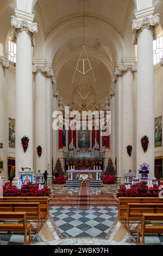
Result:
[[[135,245],[117,219],[117,207],[90,207],[77,210],[71,206],[49,207],[49,219],[31,245]],[[1,245],[22,245],[20,234],[2,234]],[[163,245],[163,237],[146,236],[147,245]]]

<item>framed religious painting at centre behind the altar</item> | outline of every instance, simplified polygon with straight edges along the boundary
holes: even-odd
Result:
[[[78,131],[78,148],[90,148],[90,130]]]

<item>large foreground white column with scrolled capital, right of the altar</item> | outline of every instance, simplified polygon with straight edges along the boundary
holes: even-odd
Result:
[[[153,39],[159,25],[159,14],[153,16],[154,7],[135,13],[133,43],[137,44],[137,83],[136,83],[136,171],[146,162],[150,165],[150,176],[154,178],[154,68]],[[147,135],[147,152],[141,146],[142,136]]]

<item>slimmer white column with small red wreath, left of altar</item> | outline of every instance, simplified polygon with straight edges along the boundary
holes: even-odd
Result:
[[[35,171],[41,173],[47,170],[47,84],[46,59],[33,60],[33,73],[35,73]],[[37,146],[42,147],[41,157],[37,154]]]

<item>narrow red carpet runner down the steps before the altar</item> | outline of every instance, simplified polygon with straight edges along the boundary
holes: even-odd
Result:
[[[79,210],[88,210],[90,208],[90,194],[87,183],[85,182],[83,182],[79,188],[77,208]]]

